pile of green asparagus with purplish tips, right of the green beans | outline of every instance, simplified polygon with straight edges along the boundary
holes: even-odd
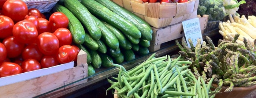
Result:
[[[211,38],[206,37],[207,42],[197,40],[196,46],[188,48],[185,38],[181,44],[176,40],[176,45],[181,51],[183,59],[192,62],[190,65],[194,75],[203,77],[205,82],[214,78],[214,83],[219,84],[215,89],[218,92],[221,86],[230,86],[226,92],[232,91],[233,87],[246,87],[256,84],[256,54],[254,45],[244,38],[243,43],[237,42],[239,34],[233,40],[219,39],[218,46],[214,46]],[[189,43],[191,40],[188,40]],[[193,45],[193,44],[190,44]]]

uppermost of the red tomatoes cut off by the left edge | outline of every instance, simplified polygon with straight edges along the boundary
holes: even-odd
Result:
[[[8,16],[0,15],[0,38],[4,39],[12,35],[14,22]]]

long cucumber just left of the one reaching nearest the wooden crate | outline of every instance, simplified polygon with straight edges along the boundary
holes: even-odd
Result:
[[[90,11],[91,14],[101,18],[105,22],[112,24],[117,29],[134,38],[140,38],[140,30],[133,23],[122,18],[118,14],[110,11],[107,7],[94,0],[81,0],[81,3]]]

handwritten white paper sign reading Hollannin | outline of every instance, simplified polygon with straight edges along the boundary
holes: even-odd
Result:
[[[203,39],[199,18],[185,20],[182,22],[182,26],[183,26],[183,31],[185,33],[186,41],[188,43],[189,48],[190,48],[190,44],[188,42],[189,38],[193,41],[194,46],[196,46],[198,38]],[[203,44],[203,40],[201,40],[201,44]]]

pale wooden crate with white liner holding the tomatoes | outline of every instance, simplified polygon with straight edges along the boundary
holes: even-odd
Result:
[[[86,62],[86,56],[87,54],[81,50],[78,54],[78,61],[76,67],[74,67],[74,61],[66,64],[57,65],[56,67],[73,64],[73,68],[65,69],[59,72],[54,72],[48,75],[38,76],[28,80],[22,80],[22,78],[26,75],[31,75],[37,72],[39,72],[40,74],[44,71],[40,71],[40,69],[38,69],[36,71],[18,74],[21,76],[19,76],[19,78],[17,79],[21,79],[21,81],[0,86],[0,98],[31,98],[36,97],[37,95],[47,93],[51,90],[54,90],[53,92],[55,92],[81,83],[85,83],[87,82],[87,80],[82,80],[72,85],[65,86],[69,83],[73,83],[77,80],[87,77],[88,64]],[[52,68],[53,67],[42,68],[41,70],[51,70]],[[2,78],[0,78],[0,81],[1,79]],[[62,86],[64,87],[55,90],[56,88]]]

